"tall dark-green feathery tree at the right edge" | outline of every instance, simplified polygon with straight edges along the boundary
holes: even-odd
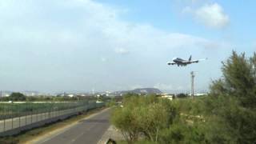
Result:
[[[218,118],[218,126],[225,135],[222,142],[256,142],[256,54],[246,58],[245,54],[233,54],[222,62],[223,77],[210,86],[210,98],[206,99],[206,110],[210,118]],[[208,134],[219,135],[217,130]]]

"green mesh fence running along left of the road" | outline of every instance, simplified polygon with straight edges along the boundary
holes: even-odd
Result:
[[[63,115],[104,106],[96,102],[26,102],[0,104],[0,135],[8,130],[18,129]]]

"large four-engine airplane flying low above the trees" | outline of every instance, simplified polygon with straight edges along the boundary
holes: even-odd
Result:
[[[198,59],[198,60],[192,60],[192,55],[190,55],[190,58],[188,60],[182,59],[182,58],[173,58],[173,62],[167,62],[168,65],[177,65],[177,66],[186,66],[191,63],[198,63],[199,61],[204,61],[205,59]]]

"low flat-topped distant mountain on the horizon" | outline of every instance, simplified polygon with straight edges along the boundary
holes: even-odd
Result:
[[[113,94],[127,94],[127,93],[135,93],[135,94],[162,94],[161,90],[158,90],[156,88],[140,88],[140,89],[134,89],[134,90],[123,90],[123,91],[116,91]]]

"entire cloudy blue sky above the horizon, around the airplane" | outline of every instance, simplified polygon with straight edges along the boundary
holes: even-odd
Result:
[[[0,89],[198,92],[256,49],[253,0],[0,0]],[[208,58],[167,66],[173,57]]]

